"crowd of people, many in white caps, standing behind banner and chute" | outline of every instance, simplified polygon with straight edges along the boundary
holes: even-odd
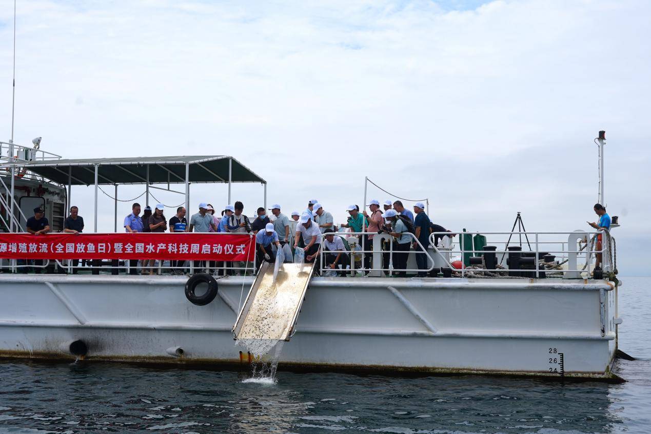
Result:
[[[292,211],[289,216],[281,211],[279,204],[273,204],[268,210],[260,207],[256,210],[253,221],[245,215],[244,205],[240,201],[227,205],[219,211],[215,211],[212,204],[202,202],[197,213],[191,215],[189,221],[184,206],[176,208],[176,213],[168,220],[165,217],[163,204],[157,204],[153,210],[150,206],[145,206],[143,212],[141,205],[134,203],[132,212],[124,217],[123,226],[128,233],[252,234],[256,240],[256,268],[263,261],[274,262],[278,249],[286,249],[285,245],[288,245],[292,254],[297,248],[303,249],[305,262],[318,262],[323,253],[324,267],[339,271],[342,275],[346,273],[346,265],[350,265],[350,254],[353,251],[358,252],[356,256],[361,258],[359,267],[363,269],[383,269],[388,274],[389,261],[393,260],[393,269],[397,270],[395,275],[405,275],[408,254],[413,248],[416,252],[417,267],[423,270],[419,272],[419,276],[424,277],[428,269],[425,249],[430,243],[430,233],[445,232],[445,228],[430,221],[422,202],[415,204],[413,213],[404,208],[400,200],[395,202],[386,200],[382,205],[378,200],[370,200],[367,207],[368,211],[364,209],[360,212],[359,206],[348,206],[346,222],[337,226],[333,215],[315,199],[309,200],[304,211]],[[268,215],[267,211],[271,211],[271,215]],[[27,220],[27,232],[35,235],[48,233],[50,226],[42,208],[35,208],[34,213],[34,217]],[[290,220],[296,222],[295,229],[292,228]],[[70,208],[70,215],[64,221],[64,232],[81,234],[83,229],[83,217],[79,215],[79,209],[73,206]],[[393,238],[393,242],[389,242],[389,237],[381,237],[381,248],[384,251],[381,255],[381,264],[374,264],[370,251],[373,250],[374,237],[380,234],[388,234]],[[454,234],[450,232],[449,236],[452,237]],[[436,243],[440,237],[442,236],[437,236]],[[362,249],[364,252],[359,252]],[[390,253],[390,250],[393,253]],[[33,261],[33,264],[40,265],[42,262]],[[78,265],[79,260],[72,261],[74,272],[77,271]],[[237,273],[235,270],[241,268],[241,265],[232,262],[193,262],[195,269],[207,269],[209,272],[220,274]],[[156,260],[130,260],[130,273],[151,275],[156,273],[155,266]],[[173,260],[170,262],[170,267],[172,273],[184,274],[189,264],[184,260]],[[320,269],[320,263],[317,269]]]

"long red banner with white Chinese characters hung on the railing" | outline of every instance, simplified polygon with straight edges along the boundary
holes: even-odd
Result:
[[[252,261],[249,234],[1,234],[0,258]]]

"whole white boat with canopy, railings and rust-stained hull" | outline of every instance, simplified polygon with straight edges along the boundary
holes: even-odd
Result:
[[[3,217],[14,230],[21,227],[18,210],[26,199],[18,192],[23,185],[36,183],[58,193],[64,210],[72,185],[95,185],[97,192],[102,184],[115,191],[122,183],[146,183],[147,189],[183,184],[186,203],[195,182],[229,183],[229,202],[231,182],[266,187],[262,178],[227,156],[66,160],[53,154],[46,158],[40,150],[21,157],[29,148],[15,144],[3,144],[2,150]],[[46,209],[57,202],[43,198]],[[12,206],[13,214],[7,212]],[[116,215],[116,228],[117,221]],[[504,264],[499,256],[518,254],[506,252],[510,234],[484,233],[497,246],[499,264]],[[516,234],[531,240],[528,256],[534,259],[528,263],[540,264],[536,258],[553,252],[565,265],[506,271],[494,265],[493,271],[474,267],[452,270],[452,277],[426,278],[413,277],[415,265],[408,265],[408,277],[385,277],[377,265],[382,263],[381,245],[375,242],[365,247],[376,264],[367,270],[368,277],[320,277],[317,270],[306,280],[304,301],[296,299],[296,312],[285,318],[290,333],[279,354],[281,366],[616,378],[611,370],[622,320],[609,234],[603,234],[603,275],[597,273],[598,278],[590,274],[594,246],[587,241],[593,232]],[[586,241],[583,251],[577,245],[581,241]],[[455,254],[480,258],[469,250],[430,248],[430,271],[450,272]],[[59,264],[72,271],[71,264]],[[256,287],[250,265],[245,276],[217,278],[217,296],[203,306],[186,298],[186,276],[165,275],[161,268],[159,275],[132,276],[124,274],[128,262],[113,265],[96,264],[94,274],[20,274],[15,261],[3,260],[0,356],[211,365],[247,365],[255,358],[234,342],[238,316],[247,316],[247,300],[256,296],[249,293]],[[395,270],[389,265],[384,271]]]

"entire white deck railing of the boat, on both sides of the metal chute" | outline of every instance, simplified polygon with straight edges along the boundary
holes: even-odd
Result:
[[[206,235],[206,233],[196,233]],[[208,233],[212,236],[225,235],[221,233]],[[605,231],[574,231],[574,232],[462,232],[462,235],[482,235],[488,238],[488,249],[475,249],[474,245],[466,247],[465,237],[458,241],[458,247],[441,247],[434,245],[436,235],[453,235],[450,232],[434,232],[430,234],[430,245],[428,249],[413,234],[409,233],[409,250],[396,249],[395,237],[389,234],[377,234],[374,232],[333,232],[322,234],[320,237],[321,246],[324,246],[326,236],[342,237],[348,248],[344,251],[326,251],[322,248],[318,252],[319,270],[322,275],[365,275],[370,277],[383,277],[408,273],[426,273],[430,277],[436,277],[439,273],[444,276],[453,275],[457,277],[564,277],[583,278],[589,277],[594,271],[593,259],[596,254],[602,255],[602,269],[604,273],[613,271],[615,264],[612,262],[611,237]],[[492,242],[491,238],[496,236],[527,235],[529,244],[519,241],[506,246],[508,241]],[[173,237],[175,234],[165,232],[166,236]],[[360,236],[374,236],[366,243],[361,241]],[[598,249],[596,236],[602,236],[602,247]],[[547,237],[566,236],[566,239],[553,241]],[[48,234],[40,237],[48,237]],[[579,244],[583,244],[581,245]],[[363,250],[362,245],[366,245]],[[498,248],[496,244],[505,245]],[[558,247],[555,247],[557,245]],[[513,247],[516,247],[515,249]],[[528,248],[529,251],[525,251]],[[613,247],[614,249],[614,247]],[[398,269],[395,266],[396,254],[406,254],[412,258],[408,262],[413,264],[413,258],[417,254],[426,254],[426,267],[419,269],[417,265],[408,265],[406,268]],[[346,264],[334,269],[329,267],[326,261],[326,254],[346,254]],[[368,255],[368,260],[364,256]],[[83,255],[80,255],[83,256]],[[555,256],[552,261],[551,256]],[[521,259],[521,258],[526,258]],[[558,259],[557,259],[558,258]],[[208,272],[214,275],[233,275],[243,273],[244,275],[255,274],[255,263],[251,262],[217,262],[212,260],[185,260],[180,263],[178,260],[165,258],[165,253],[157,254],[156,259],[139,260],[137,265],[129,259],[111,260],[82,260],[81,265],[76,265],[77,260],[42,260],[42,264],[35,264],[29,260],[29,254],[25,254],[25,260],[1,260],[0,269],[10,269],[14,272],[25,271],[25,269],[48,269],[50,272],[74,273],[75,271],[91,271],[93,274],[108,272],[119,274],[126,272],[133,274],[138,270],[143,272],[152,271],[153,274],[163,273],[194,274]],[[133,261],[133,260],[132,260]],[[145,262],[146,261],[146,262]],[[38,260],[37,260],[38,262]],[[150,263],[151,262],[151,263]],[[460,266],[460,264],[462,264]],[[505,264],[505,265],[503,265]],[[446,272],[447,269],[447,272]],[[403,273],[404,272],[404,273]]]

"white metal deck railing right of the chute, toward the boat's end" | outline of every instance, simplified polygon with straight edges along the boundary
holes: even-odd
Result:
[[[475,250],[473,245],[466,246],[465,237],[460,237],[458,247],[439,247],[434,244],[436,236],[456,235],[482,235],[491,239],[488,249]],[[361,236],[374,236],[365,240]],[[597,248],[596,236],[603,237],[601,249]],[[324,246],[326,236],[339,236],[346,240],[348,249],[344,251],[327,251],[322,248],[320,255],[320,271],[323,275],[346,276],[391,276],[399,272],[409,274],[424,273],[430,277],[440,274],[447,275],[448,269],[452,275],[459,277],[564,277],[582,278],[590,276],[594,271],[596,254],[602,254],[602,269],[607,273],[613,271],[611,254],[609,254],[611,240],[605,236],[604,231],[574,232],[434,232],[430,234],[430,245],[424,249],[423,245],[413,234],[409,251],[396,251],[395,237],[389,234],[376,234],[375,232],[331,232],[321,235],[321,246]],[[495,240],[496,236],[504,237]],[[507,237],[516,237],[514,241]],[[519,237],[523,245],[519,245]],[[561,239],[559,239],[561,238]],[[366,243],[366,245],[365,245]],[[415,243],[415,244],[414,244]],[[515,248],[514,248],[515,247]],[[527,251],[527,248],[529,251]],[[426,267],[421,269],[413,266],[398,269],[395,267],[395,254],[426,255]],[[326,254],[338,256],[346,254],[346,263],[340,262],[332,267],[331,261],[325,260]],[[370,260],[364,260],[368,255]],[[471,260],[471,258],[474,258]],[[489,258],[486,261],[486,258]],[[521,259],[522,258],[522,259]],[[527,258],[527,259],[524,259]],[[456,260],[456,261],[455,261]],[[457,262],[458,261],[458,262]],[[453,264],[454,262],[454,264]],[[372,265],[368,265],[368,264]],[[493,265],[494,264],[494,265]]]

